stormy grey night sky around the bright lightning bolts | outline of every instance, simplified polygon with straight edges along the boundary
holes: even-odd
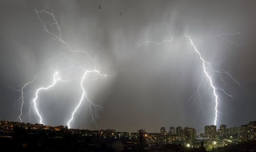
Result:
[[[101,5],[101,9],[99,9]],[[35,12],[53,12],[61,24],[61,38],[74,50],[87,50],[96,59],[97,69],[84,81],[88,98],[103,107],[97,125],[92,123],[89,102],[84,99],[74,115],[72,128],[116,129],[159,132],[161,126],[189,126],[203,132],[214,123],[215,102],[205,79],[194,104],[189,97],[197,91],[203,77],[202,62],[190,41],[215,70],[226,70],[224,85],[211,73],[220,90],[218,126],[240,126],[256,120],[256,1],[0,1],[0,119],[16,121],[20,114],[21,92],[27,98],[24,122],[38,123],[32,108],[35,90],[53,82],[58,70],[69,83],[57,83],[39,93],[38,109],[49,125],[67,125],[81,97],[80,81],[84,71],[73,69],[67,61],[58,64],[65,53],[84,69],[93,64],[86,54],[71,53],[44,30]],[[121,13],[122,12],[122,13]],[[119,15],[121,13],[121,15]],[[44,21],[53,21],[42,15]],[[56,32],[56,28],[51,29]],[[236,35],[234,33],[240,33]],[[221,34],[230,34],[220,36]],[[145,41],[164,42],[141,44]],[[51,60],[53,59],[53,60]],[[95,76],[95,77],[94,77]],[[12,86],[12,87],[11,87]],[[16,102],[15,102],[16,101]],[[196,119],[197,118],[197,119]]]

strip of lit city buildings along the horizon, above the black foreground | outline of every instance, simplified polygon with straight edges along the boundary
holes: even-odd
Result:
[[[69,129],[68,126],[65,125],[44,125],[44,124],[31,124],[25,122],[17,122],[17,121],[7,121],[7,120],[0,120],[0,130],[2,131],[13,131],[14,128],[18,126],[19,128],[24,128],[25,130],[32,129],[32,130],[54,130],[54,131],[61,131],[61,130],[81,130],[81,131],[111,131],[113,133],[139,133],[140,130],[134,132],[126,132],[126,131],[117,131],[115,129],[100,129],[100,130],[88,130],[88,129]],[[236,142],[247,142],[256,140],[256,121],[250,121],[247,124],[241,124],[240,126],[231,126],[227,128],[226,124],[221,124],[219,129],[216,125],[206,125],[204,126],[204,133],[197,132],[194,128],[190,128],[188,126],[171,126],[169,131],[166,130],[164,126],[162,126],[159,132],[147,132],[146,128],[142,129],[144,135],[162,135],[162,136],[174,136],[175,138],[172,140],[181,139],[182,137],[184,141],[189,140],[189,142],[193,142],[196,139],[225,139],[225,140],[233,140]],[[120,138],[120,137],[119,137]],[[228,141],[227,140],[227,141]],[[165,143],[167,144],[167,143]]]

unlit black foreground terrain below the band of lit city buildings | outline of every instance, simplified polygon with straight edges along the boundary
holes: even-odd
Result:
[[[139,139],[84,136],[63,130],[14,128],[13,131],[0,131],[0,151],[206,151],[203,144],[195,148],[181,144],[148,145],[142,141],[142,138],[140,142]],[[211,151],[256,151],[256,141],[212,148]]]

